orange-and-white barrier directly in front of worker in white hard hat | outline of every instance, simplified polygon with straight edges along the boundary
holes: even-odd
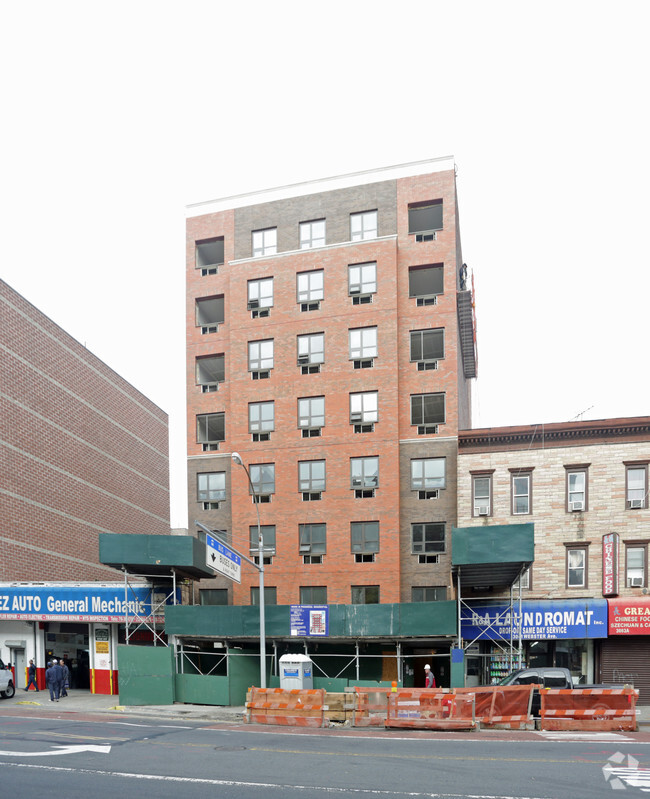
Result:
[[[386,727],[475,730],[474,694],[446,688],[400,688],[388,696]]]

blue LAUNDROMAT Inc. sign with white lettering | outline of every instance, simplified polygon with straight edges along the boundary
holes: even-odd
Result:
[[[530,600],[521,603],[521,637],[526,641],[560,638],[606,638],[607,600]],[[461,635],[466,641],[519,638],[519,608],[477,604],[461,611]]]

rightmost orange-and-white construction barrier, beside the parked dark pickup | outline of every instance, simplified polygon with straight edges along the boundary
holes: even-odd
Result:
[[[542,730],[636,730],[634,688],[542,688]]]

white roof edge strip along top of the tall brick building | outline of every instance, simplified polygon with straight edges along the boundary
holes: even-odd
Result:
[[[378,183],[381,180],[397,180],[398,178],[409,178],[415,175],[426,175],[429,172],[444,172],[448,169],[454,169],[454,167],[454,156],[445,155],[441,158],[413,161],[408,164],[397,164],[379,169],[366,169],[361,172],[350,172],[347,175],[308,180],[304,183],[290,183],[286,186],[262,189],[261,191],[246,194],[235,194],[232,197],[191,203],[185,207],[185,217],[189,219],[195,216],[203,216],[204,214],[243,208],[247,205],[286,200],[290,197],[303,197],[306,194],[316,194],[321,191],[364,186],[369,183]]]

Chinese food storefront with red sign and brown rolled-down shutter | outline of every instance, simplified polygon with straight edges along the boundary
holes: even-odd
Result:
[[[603,682],[631,683],[639,703],[650,703],[650,598],[607,600],[609,638],[603,641],[600,673]]]

